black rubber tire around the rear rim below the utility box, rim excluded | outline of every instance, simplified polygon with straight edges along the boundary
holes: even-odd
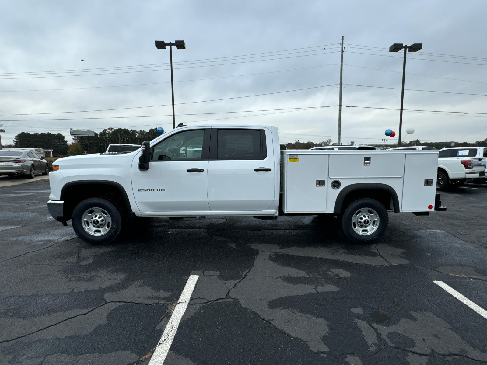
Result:
[[[378,229],[370,236],[361,236],[356,233],[350,223],[352,220],[352,216],[358,209],[361,208],[372,208],[374,209],[380,219]],[[355,243],[374,243],[378,240],[387,229],[389,224],[389,215],[387,214],[387,210],[379,201],[371,198],[362,198],[357,199],[356,201],[352,201],[350,204],[347,205],[345,211],[343,212],[340,220],[341,232],[350,239],[352,242]]]

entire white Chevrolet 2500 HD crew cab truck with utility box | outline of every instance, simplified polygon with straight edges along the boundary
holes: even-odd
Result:
[[[137,151],[56,160],[47,205],[90,243],[136,217],[333,215],[343,234],[373,242],[388,211],[445,210],[438,151],[281,150],[278,128],[175,128]]]

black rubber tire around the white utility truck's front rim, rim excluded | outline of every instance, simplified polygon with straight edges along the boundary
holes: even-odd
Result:
[[[105,209],[112,218],[112,228],[107,234],[100,237],[95,237],[87,233],[81,223],[81,216],[83,213],[93,207]],[[104,198],[88,198],[81,201],[76,205],[75,210],[73,211],[71,222],[76,235],[83,241],[94,245],[104,245],[112,242],[122,229],[122,215],[120,214],[119,208],[111,201]]]

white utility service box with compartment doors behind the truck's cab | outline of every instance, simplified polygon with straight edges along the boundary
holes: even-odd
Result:
[[[370,165],[364,165],[365,157]],[[373,183],[395,191],[399,211],[428,212],[434,207],[437,161],[437,150],[282,151],[283,211],[334,213],[342,189]],[[317,180],[324,180],[324,186]],[[340,182],[338,189],[331,187],[334,180]],[[432,180],[431,185],[425,180]]]

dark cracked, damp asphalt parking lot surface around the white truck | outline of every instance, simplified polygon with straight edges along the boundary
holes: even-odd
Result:
[[[137,222],[93,246],[47,212],[49,183],[0,187],[0,364],[148,364],[199,275],[164,364],[487,363],[487,186],[390,214],[375,245],[335,219]]]

